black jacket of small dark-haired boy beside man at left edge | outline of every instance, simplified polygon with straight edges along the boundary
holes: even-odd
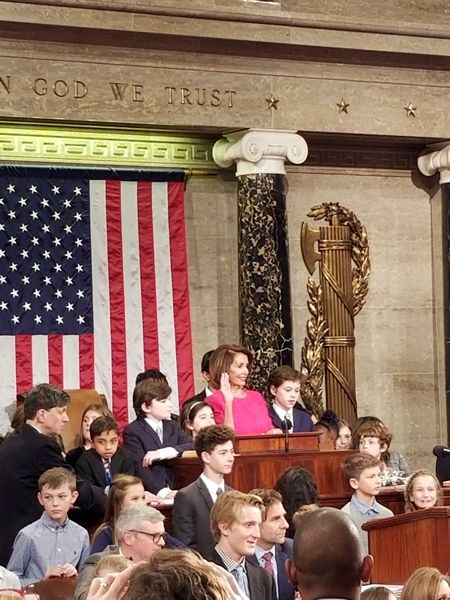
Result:
[[[83,452],[77,460],[75,471],[79,477],[92,483],[92,485],[98,485],[102,488],[109,485],[109,482],[106,481],[103,459],[93,448]],[[119,473],[136,474],[133,455],[125,448],[117,448],[117,452],[111,458],[111,478]]]

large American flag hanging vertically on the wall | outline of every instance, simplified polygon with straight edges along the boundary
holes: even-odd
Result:
[[[39,382],[95,388],[124,425],[155,366],[174,410],[193,393],[183,173],[105,175],[0,170],[5,405]]]

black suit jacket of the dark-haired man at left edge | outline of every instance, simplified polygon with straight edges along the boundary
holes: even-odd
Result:
[[[22,425],[0,445],[0,564],[6,566],[18,531],[39,519],[42,506],[37,482],[47,469],[70,468],[61,448],[48,435]],[[105,494],[100,488],[77,480],[77,505],[103,514]]]

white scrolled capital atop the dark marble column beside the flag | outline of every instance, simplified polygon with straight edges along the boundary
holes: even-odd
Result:
[[[224,139],[225,138],[225,139]],[[296,131],[245,129],[224,134],[213,147],[214,162],[224,169],[236,163],[236,176],[286,173],[285,161],[301,164],[308,146]]]

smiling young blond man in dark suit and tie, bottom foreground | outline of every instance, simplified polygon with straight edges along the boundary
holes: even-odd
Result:
[[[220,494],[211,509],[217,544],[210,560],[229,571],[250,600],[276,600],[273,577],[248,560],[255,553],[263,510],[258,496],[235,490]]]

